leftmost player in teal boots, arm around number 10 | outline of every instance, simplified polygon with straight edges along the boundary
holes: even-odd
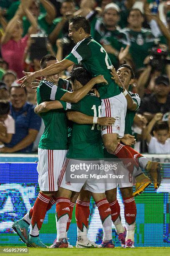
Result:
[[[54,56],[46,55],[41,59],[40,66],[45,68],[52,63],[56,63],[56,61]],[[45,79],[40,82],[37,88],[37,102],[40,104],[45,100],[60,99],[77,102],[101,80],[106,82],[102,76],[94,77],[80,90],[71,93],[60,88],[67,82],[59,79],[58,74],[45,76]],[[62,107],[62,101],[59,103]],[[51,110],[48,113],[41,114],[41,116],[45,123],[45,131],[41,136],[38,148],[37,172],[39,174],[40,192],[32,209],[22,220],[13,224],[13,229],[20,238],[31,247],[46,247],[39,239],[39,231],[47,210],[56,202],[53,194],[58,189],[57,179],[67,151],[67,118],[65,113],[62,110]],[[30,223],[30,235],[28,236]]]

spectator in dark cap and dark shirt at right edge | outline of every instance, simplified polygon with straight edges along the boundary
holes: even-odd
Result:
[[[155,79],[154,93],[142,100],[139,113],[145,115],[150,121],[156,113],[167,113],[170,111],[170,80],[161,75]]]

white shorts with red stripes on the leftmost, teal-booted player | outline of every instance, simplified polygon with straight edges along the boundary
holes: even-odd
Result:
[[[42,191],[57,191],[57,180],[61,172],[67,150],[38,148],[38,184]]]

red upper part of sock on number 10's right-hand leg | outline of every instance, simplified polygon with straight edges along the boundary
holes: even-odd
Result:
[[[95,202],[98,210],[99,210],[99,214],[100,214],[100,218],[102,220],[102,223],[105,221],[105,219],[111,215],[111,209],[110,209],[110,204],[107,201],[107,198],[103,198],[102,200],[99,200],[97,202]]]

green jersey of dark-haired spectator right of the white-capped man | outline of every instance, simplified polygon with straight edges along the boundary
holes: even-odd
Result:
[[[130,39],[130,54],[133,58],[135,68],[144,67],[143,61],[149,55],[149,50],[154,46],[155,37],[149,29],[142,28],[140,32],[123,29]]]

